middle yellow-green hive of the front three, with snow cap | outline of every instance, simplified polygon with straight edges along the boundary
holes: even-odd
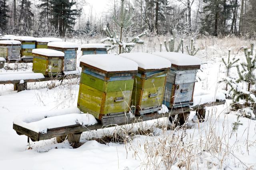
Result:
[[[119,56],[138,64],[132,91],[132,106],[136,115],[152,113],[161,109],[164,86],[171,62],[148,53],[123,53]]]

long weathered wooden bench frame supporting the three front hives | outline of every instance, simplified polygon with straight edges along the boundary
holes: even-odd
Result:
[[[191,109],[194,109],[194,110],[203,109],[204,107],[222,105],[222,104],[225,104],[225,102],[226,102],[226,100],[222,100],[222,101],[216,101],[216,102],[202,104],[200,106],[175,108],[175,109],[171,109],[171,111],[169,113],[163,113],[163,114],[148,113],[148,114],[144,114],[144,115],[136,115],[132,119],[132,122],[129,122],[129,123],[137,123],[137,122],[141,122],[141,121],[148,121],[148,120],[158,119],[158,118],[162,118],[162,117],[170,117],[170,116],[176,115],[176,114],[179,114],[182,117],[184,114],[188,114],[191,111]],[[121,123],[118,125],[124,125],[124,123]],[[107,127],[112,127],[112,126],[116,126],[116,125],[109,125]],[[72,125],[72,126],[47,129],[47,133],[37,133],[37,132],[31,131],[29,129],[26,129],[24,127],[21,127],[19,125],[13,124],[13,129],[16,131],[16,133],[18,135],[26,135],[32,141],[41,141],[41,140],[46,140],[46,139],[51,139],[51,138],[57,137],[57,139],[58,139],[57,141],[61,142],[68,135],[68,140],[71,143],[79,143],[80,135],[84,131],[102,129],[104,127],[106,127],[106,126],[102,126],[102,124],[100,124],[100,123],[96,123],[95,125],[90,125],[90,126]]]

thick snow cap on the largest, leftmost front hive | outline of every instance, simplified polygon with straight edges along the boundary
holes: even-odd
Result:
[[[81,62],[108,72],[138,70],[134,61],[112,54],[83,55]]]

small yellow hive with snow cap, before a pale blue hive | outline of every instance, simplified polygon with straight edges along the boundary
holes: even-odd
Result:
[[[45,76],[62,72],[64,53],[52,49],[33,49],[33,71]]]

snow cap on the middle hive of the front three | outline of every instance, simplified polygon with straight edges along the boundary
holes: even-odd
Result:
[[[171,62],[149,53],[122,53],[119,56],[135,61],[143,69],[162,69],[171,67]]]

